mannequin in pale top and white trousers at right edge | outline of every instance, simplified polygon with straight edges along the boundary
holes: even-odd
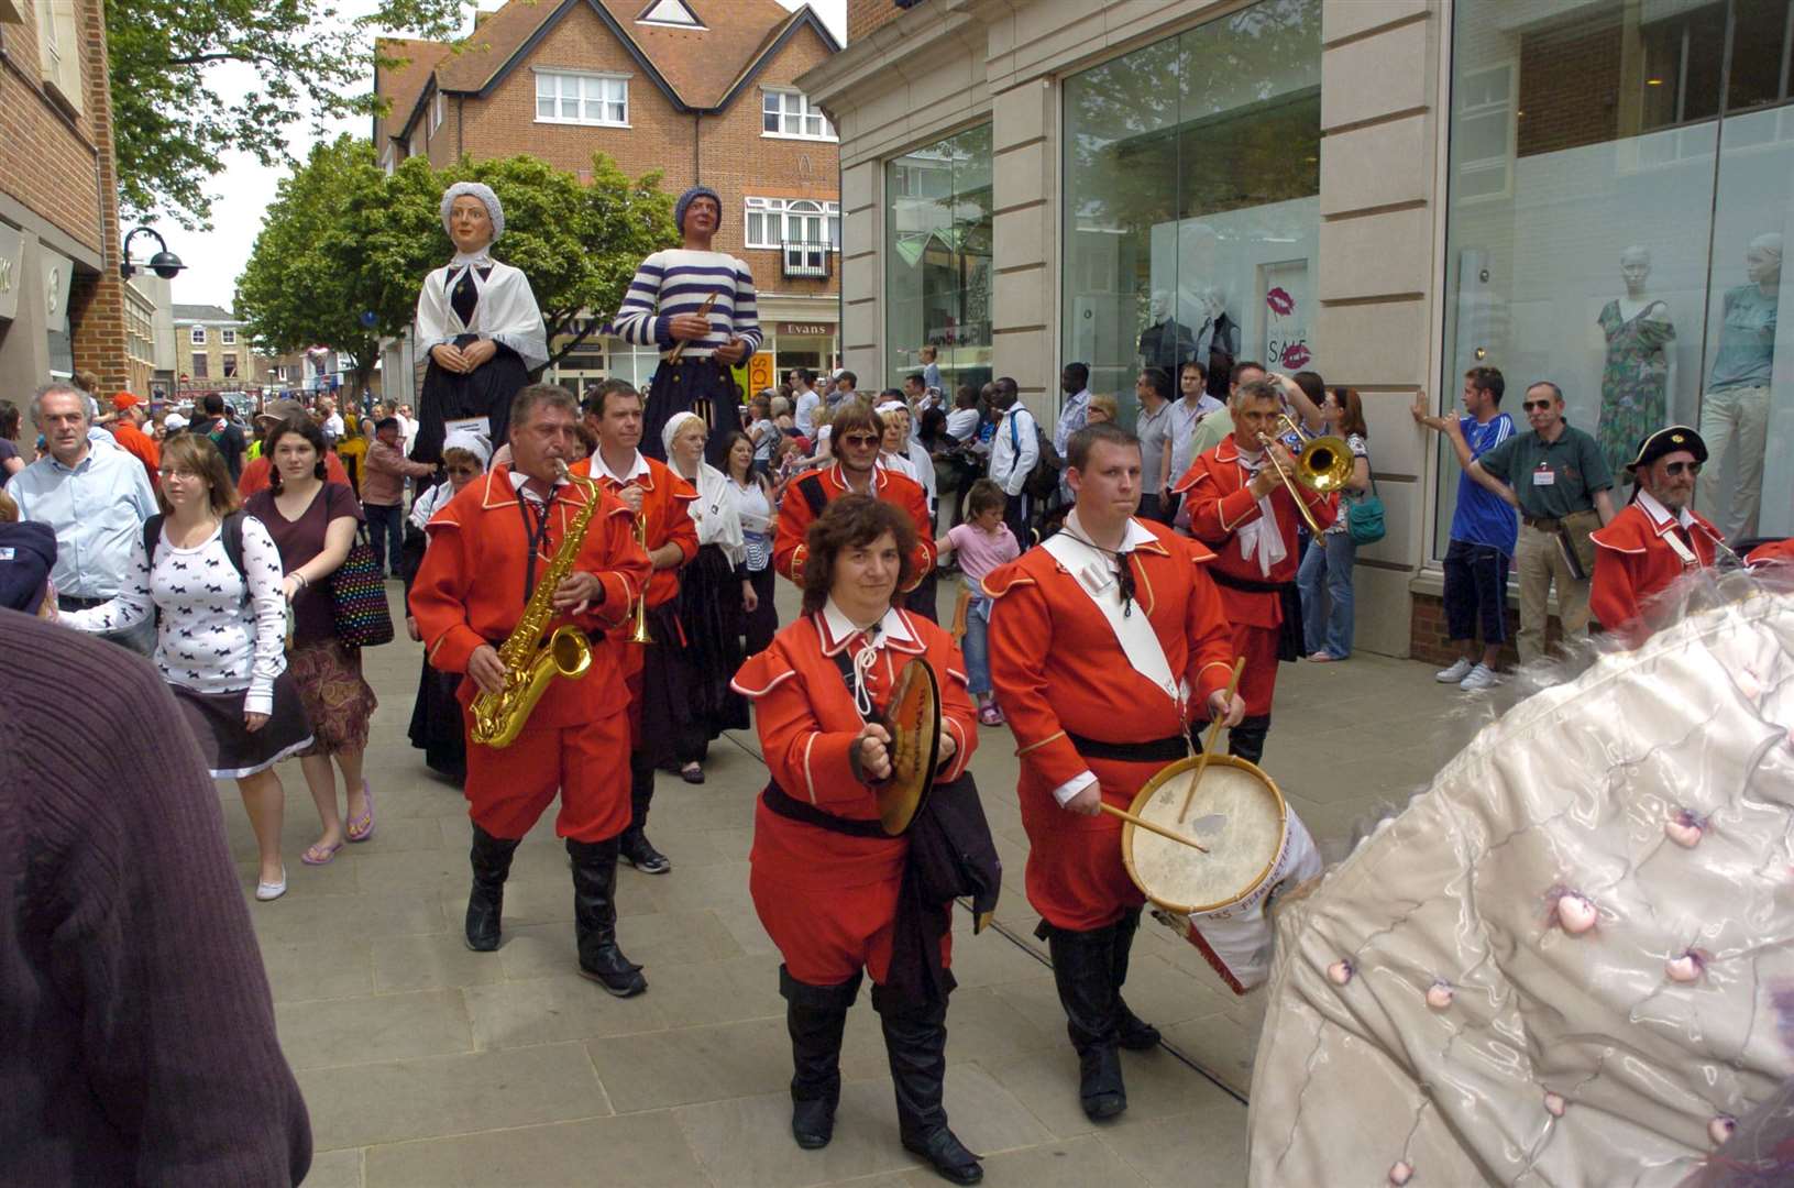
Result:
[[[1781,293],[1781,235],[1753,239],[1744,253],[1746,284],[1720,305],[1719,350],[1701,398],[1701,436],[1708,459],[1701,472],[1701,510],[1726,540],[1756,535],[1769,443],[1769,386],[1776,354],[1776,303]],[[1733,456],[1731,502],[1719,504],[1720,474]]]

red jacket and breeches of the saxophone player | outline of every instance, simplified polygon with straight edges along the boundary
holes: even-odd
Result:
[[[574,571],[597,574],[605,601],[579,616],[554,617],[601,633],[628,617],[642,583],[648,556],[635,544],[630,510],[614,497],[587,524]],[[585,494],[556,488],[549,533],[538,547],[538,576],[567,538]],[[429,524],[431,547],[411,587],[411,614],[418,621],[429,660],[445,673],[465,673],[481,644],[501,646],[522,617],[529,562],[529,531],[508,467],[468,483]],[[547,632],[545,632],[547,633]],[[628,825],[630,797],[621,691],[621,644],[599,635],[592,666],[578,680],[549,682],[522,734],[504,750],[468,739],[466,799],[474,820],[501,838],[520,838],[562,791],[562,836],[601,842]],[[475,694],[461,682],[461,705]]]

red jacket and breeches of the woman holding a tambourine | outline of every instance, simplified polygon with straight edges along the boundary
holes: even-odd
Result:
[[[935,781],[958,779],[978,748],[978,711],[965,693],[960,650],[906,610],[893,610],[884,626],[881,655],[867,671],[872,702],[883,705],[902,666],[924,657],[940,682],[942,729],[958,743]],[[741,666],[734,687],[753,700],[761,752],[786,795],[847,820],[877,820],[877,799],[847,759],[865,723],[834,659],[843,650],[858,657],[865,635],[840,621],[831,628],[825,614],[804,616]],[[764,800],[755,808],[748,890],[793,978],[836,985],[865,965],[874,982],[884,982],[908,852],[902,836],[847,836],[780,817]]]

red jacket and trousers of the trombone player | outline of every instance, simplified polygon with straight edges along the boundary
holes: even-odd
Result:
[[[1283,483],[1270,492],[1270,510],[1277,517],[1285,558],[1267,574],[1259,571],[1258,556],[1249,560],[1240,551],[1238,529],[1263,515],[1258,499],[1247,490],[1250,479],[1252,474],[1240,465],[1240,443],[1229,436],[1189,463],[1189,470],[1171,485],[1171,490],[1189,501],[1189,531],[1215,549],[1218,572],[1247,581],[1295,581],[1295,571],[1302,562],[1295,533],[1302,517]],[[1333,522],[1337,515],[1333,495],[1320,495],[1306,486],[1295,490],[1302,492],[1302,502],[1320,528]],[[1225,585],[1220,585],[1220,596],[1232,623],[1234,653],[1245,657],[1245,671],[1240,675],[1245,712],[1265,716],[1277,691],[1277,628],[1283,626],[1283,599],[1270,590],[1234,590]]]

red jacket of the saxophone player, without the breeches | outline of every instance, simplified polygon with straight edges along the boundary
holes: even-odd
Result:
[[[465,673],[474,650],[481,644],[501,646],[524,614],[529,531],[518,499],[509,467],[499,467],[468,483],[431,517],[431,547],[411,587],[411,614],[423,635],[425,655],[440,671]],[[574,569],[597,574],[605,601],[576,617],[556,617],[549,632],[562,623],[587,633],[617,626],[648,581],[648,555],[635,544],[630,510],[605,492],[599,499],[603,502],[592,513]],[[538,547],[538,576],[547,571],[583,506],[579,486],[569,483],[556,488],[549,533]],[[617,646],[596,642],[585,677],[551,682],[529,725],[567,727],[619,714],[626,705],[619,686]],[[463,703],[474,693],[474,682],[463,680]]]

